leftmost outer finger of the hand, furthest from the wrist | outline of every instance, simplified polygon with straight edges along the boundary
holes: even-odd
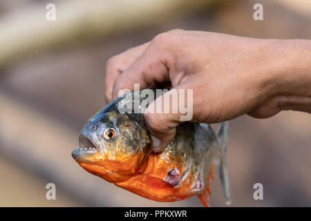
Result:
[[[111,101],[113,92],[113,83],[115,79],[128,68],[135,59],[137,59],[144,50],[149,46],[150,42],[137,46],[135,48],[129,48],[120,55],[111,57],[106,63],[106,76],[105,76],[105,99],[106,102]]]

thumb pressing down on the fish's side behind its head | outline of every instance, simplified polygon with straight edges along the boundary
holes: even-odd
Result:
[[[176,127],[182,122],[178,104],[184,103],[178,101],[178,97],[177,90],[173,88],[153,101],[144,113],[153,141],[153,152],[159,153],[171,143]]]

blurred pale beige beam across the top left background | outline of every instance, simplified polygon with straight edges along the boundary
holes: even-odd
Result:
[[[213,0],[56,1],[56,20],[46,5],[23,7],[0,19],[0,68],[55,46],[164,22]]]

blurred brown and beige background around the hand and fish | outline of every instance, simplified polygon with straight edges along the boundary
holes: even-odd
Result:
[[[55,21],[46,19],[48,3]],[[253,19],[255,3],[263,21]],[[141,198],[71,157],[105,105],[107,59],[173,28],[310,39],[311,1],[0,1],[0,206],[201,206]],[[310,114],[232,120],[227,157],[232,206],[311,206]],[[46,200],[49,182],[57,200]],[[225,206],[218,176],[211,191],[211,206]]]

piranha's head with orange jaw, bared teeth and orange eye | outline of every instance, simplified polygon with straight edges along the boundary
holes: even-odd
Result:
[[[131,95],[131,94],[130,94]],[[130,97],[131,98],[131,97]],[[73,158],[86,171],[120,182],[147,166],[151,137],[141,113],[120,113],[124,95],[95,114],[79,135]]]

